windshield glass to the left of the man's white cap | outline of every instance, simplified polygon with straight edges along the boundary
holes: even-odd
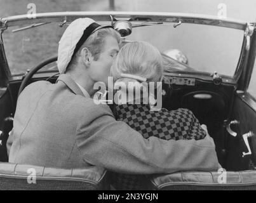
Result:
[[[58,41],[66,27],[59,27],[59,23],[50,23],[32,29],[11,32],[20,27],[11,27],[3,32],[4,50],[11,74],[22,74],[26,70],[43,62],[47,58],[57,56]],[[26,25],[27,26],[27,25]],[[41,69],[56,70],[56,65],[49,65]]]

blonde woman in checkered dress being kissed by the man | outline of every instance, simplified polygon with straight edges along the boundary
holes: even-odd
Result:
[[[154,82],[156,87],[157,82],[163,79],[163,58],[157,48],[145,42],[126,44],[114,60],[111,75],[114,86],[121,87],[114,93],[116,102],[112,108],[118,121],[126,122],[145,139],[150,136],[164,140],[205,138],[206,131],[191,110],[152,110],[154,90],[147,89],[147,84]],[[138,175],[114,174],[112,180],[118,190],[144,190],[148,185],[145,176]]]

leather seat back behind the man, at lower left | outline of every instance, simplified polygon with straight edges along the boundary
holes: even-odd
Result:
[[[105,169],[58,169],[0,162],[0,190],[108,190]]]

